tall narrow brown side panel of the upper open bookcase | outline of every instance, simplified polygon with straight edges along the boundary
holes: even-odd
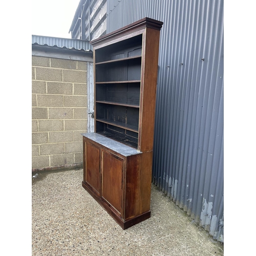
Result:
[[[146,28],[143,37],[143,56],[140,96],[140,128],[139,128],[139,150],[142,152],[153,150],[154,121],[156,105],[156,88],[158,72],[160,31]]]

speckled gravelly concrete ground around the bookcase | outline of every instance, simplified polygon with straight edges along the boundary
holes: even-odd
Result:
[[[82,177],[82,169],[32,177],[32,255],[224,255],[224,245],[156,186],[151,218],[123,230],[82,187]]]

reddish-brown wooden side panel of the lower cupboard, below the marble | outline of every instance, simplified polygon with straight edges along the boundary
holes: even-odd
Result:
[[[152,152],[127,158],[125,220],[150,210]]]

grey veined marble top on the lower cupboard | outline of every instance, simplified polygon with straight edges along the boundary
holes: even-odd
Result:
[[[107,137],[97,134],[97,133],[83,133],[82,136],[89,138],[89,139],[91,139],[91,140],[109,148],[110,150],[113,150],[113,151],[125,156],[125,157],[142,154],[140,151],[136,150],[133,147],[126,146],[118,141],[107,138]]]

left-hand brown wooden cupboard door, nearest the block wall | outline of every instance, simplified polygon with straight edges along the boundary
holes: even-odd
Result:
[[[100,148],[86,141],[86,173],[87,182],[100,195]]]

